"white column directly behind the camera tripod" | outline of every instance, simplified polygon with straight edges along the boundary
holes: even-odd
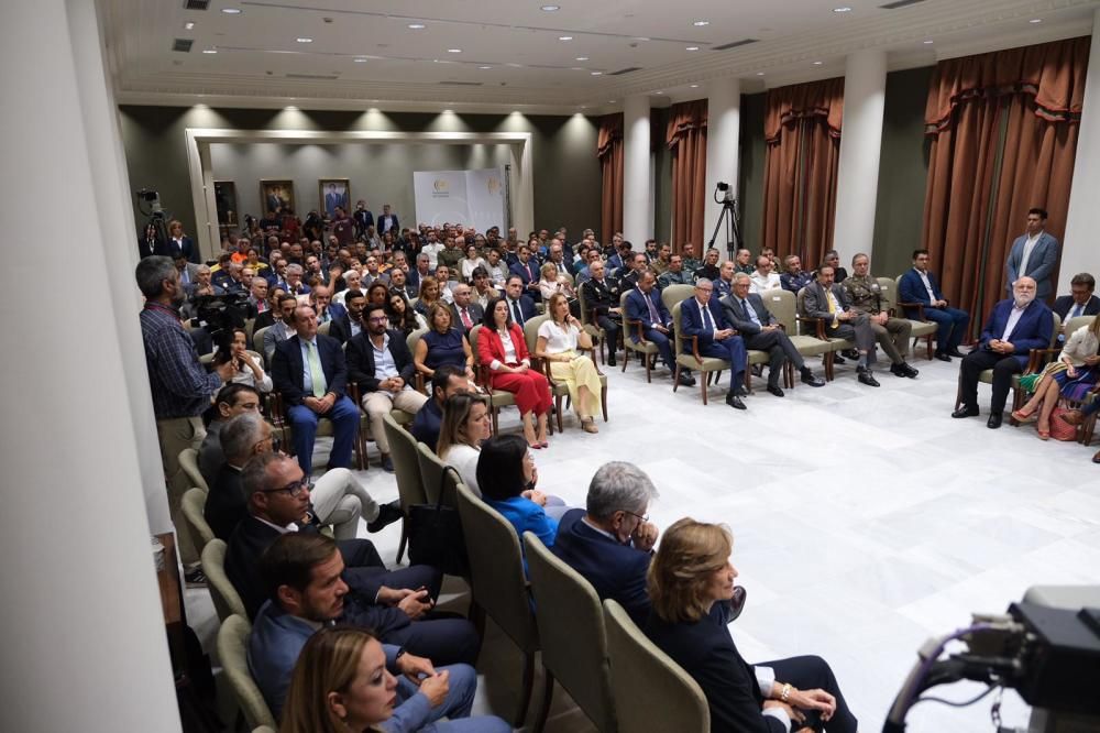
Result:
[[[734,198],[737,199],[737,176],[740,161],[738,160],[738,141],[741,133],[741,83],[740,79],[719,79],[710,85],[706,99],[706,215],[703,221],[702,242],[695,242],[697,256],[703,256],[703,250],[714,233],[714,227],[718,222],[722,214],[722,204],[715,204],[714,190],[718,182],[725,182],[733,187]],[[738,201],[738,216],[740,216],[740,201]],[[730,239],[734,237],[733,227],[729,229]],[[746,242],[746,247],[754,251],[758,248],[751,242]],[[718,230],[718,236],[714,240],[714,245],[722,252],[722,259],[726,259],[726,226],[723,223]],[[736,248],[737,244],[735,243]]]

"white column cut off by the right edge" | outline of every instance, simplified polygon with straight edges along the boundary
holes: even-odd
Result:
[[[1088,161],[1092,161],[1088,163]],[[1069,192],[1066,234],[1062,242],[1062,266],[1058,270],[1058,292],[1069,292],[1069,281],[1079,272],[1100,276],[1096,258],[1096,233],[1100,231],[1100,207],[1096,205],[1100,190],[1100,10],[1092,17],[1092,46],[1085,77],[1085,100],[1081,107],[1081,129],[1077,136],[1077,158],[1074,163],[1074,186]]]

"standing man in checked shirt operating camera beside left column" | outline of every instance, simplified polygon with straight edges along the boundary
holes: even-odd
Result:
[[[184,522],[180,504],[189,488],[179,467],[179,452],[198,449],[206,437],[200,415],[210,406],[210,398],[237,371],[230,361],[208,373],[199,363],[190,337],[179,320],[184,288],[179,271],[166,256],[148,256],[134,271],[138,287],[145,296],[141,311],[142,340],[145,343],[145,366],[153,393],[153,414],[161,444],[168,486],[168,508],[176,526],[179,556],[188,582],[202,582],[198,553]]]

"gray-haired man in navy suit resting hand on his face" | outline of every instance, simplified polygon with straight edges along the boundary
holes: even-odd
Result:
[[[640,468],[626,461],[604,463],[588,484],[585,508],[561,517],[552,548],[592,583],[601,600],[614,599],[639,625],[649,615],[646,575],[658,530],[646,512],[654,499],[657,488]],[[734,595],[730,621],[744,605],[741,590]]]

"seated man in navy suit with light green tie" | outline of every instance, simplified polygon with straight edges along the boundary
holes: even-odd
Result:
[[[283,395],[301,470],[314,468],[314,439],[321,417],[332,420],[328,468],[348,468],[359,431],[359,407],[344,394],[348,369],[334,338],[317,332],[317,314],[305,304],[294,309],[295,335],[275,349],[272,380]]]

